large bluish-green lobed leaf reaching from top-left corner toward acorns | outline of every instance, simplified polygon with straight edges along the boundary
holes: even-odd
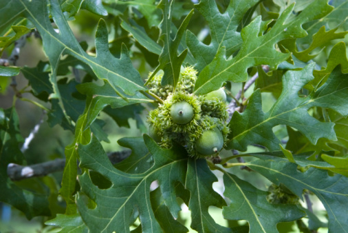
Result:
[[[61,99],[56,84],[56,73],[63,52],[87,63],[99,79],[108,81],[115,92],[121,96],[123,94],[132,95],[138,90],[146,90],[143,87],[140,74],[131,64],[127,48],[122,46],[120,59],[116,59],[110,53],[105,21],[100,20],[98,24],[96,32],[96,57],[91,57],[76,41],[72,30],[69,28],[67,21],[65,21],[58,1],[50,1],[50,10],[56,26],[58,26],[59,33],[54,30],[51,23],[47,23],[50,22],[48,12],[41,10],[47,8],[45,1],[17,0],[13,2],[23,8],[23,13],[34,23],[43,39],[43,49],[50,60],[52,68],[50,81],[54,87],[54,94],[51,94],[51,98]]]

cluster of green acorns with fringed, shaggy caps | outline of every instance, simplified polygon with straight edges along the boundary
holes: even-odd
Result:
[[[162,86],[162,77],[163,72],[158,72],[149,81],[150,91],[163,100],[149,113],[150,136],[164,148],[179,143],[196,158],[217,155],[229,133],[224,89],[203,96],[193,94],[197,71],[191,66],[182,68],[175,88]]]

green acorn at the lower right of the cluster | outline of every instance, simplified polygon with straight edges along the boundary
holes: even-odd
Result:
[[[196,150],[199,154],[216,154],[224,146],[224,136],[217,129],[207,130],[196,141]]]

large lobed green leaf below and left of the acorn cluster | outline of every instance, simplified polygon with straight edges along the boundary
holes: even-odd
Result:
[[[144,136],[144,141],[153,154],[154,165],[142,174],[127,174],[113,168],[100,143],[94,137],[88,145],[78,145],[80,167],[98,171],[113,183],[111,188],[100,190],[91,183],[89,172],[78,177],[81,190],[96,203],[96,207],[90,210],[80,196],[77,199],[80,214],[91,232],[129,232],[129,225],[133,223],[130,221],[130,216],[135,211],[135,206],[140,214],[142,231],[161,232],[161,227],[151,209],[149,189],[155,180],[160,183],[168,209],[177,217],[180,207],[173,198],[175,197],[173,185],[176,181],[184,183],[186,152],[184,148],[177,150],[159,148],[149,136]]]

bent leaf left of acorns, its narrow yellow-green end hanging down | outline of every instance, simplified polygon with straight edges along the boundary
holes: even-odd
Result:
[[[76,83],[72,86],[72,88],[76,88]],[[75,213],[75,203],[72,194],[75,191],[77,176],[76,159],[78,159],[78,153],[76,152],[76,145],[78,143],[89,143],[91,131],[94,133],[102,132],[100,127],[98,127],[98,125],[94,123],[100,111],[107,105],[110,105],[111,108],[121,108],[125,105],[133,103],[151,102],[151,100],[145,98],[140,93],[136,93],[133,97],[127,96],[128,99],[123,99],[114,91],[110,83],[107,81],[105,81],[104,85],[102,86],[96,85],[95,83],[83,83],[78,85],[77,88],[80,91],[80,93],[87,95],[87,101],[85,104],[84,100],[78,100],[82,101],[78,108],[83,107],[83,105],[86,106],[83,114],[80,115],[80,117],[78,117],[79,114],[81,114],[80,111],[76,112],[76,115],[69,114],[72,115],[74,121],[76,121],[75,139],[71,145],[68,145],[67,148],[65,148],[65,156],[67,162],[65,163],[61,188],[61,194],[68,205],[68,214]],[[71,95],[71,92],[69,94]],[[67,99],[71,100],[71,97]],[[74,107],[75,105],[69,106]],[[71,109],[72,111],[76,111],[78,108]],[[75,117],[78,117],[78,119],[75,119]],[[100,136],[102,136],[102,134],[99,133],[99,135],[97,134],[96,136],[98,136],[98,139],[100,139]]]

